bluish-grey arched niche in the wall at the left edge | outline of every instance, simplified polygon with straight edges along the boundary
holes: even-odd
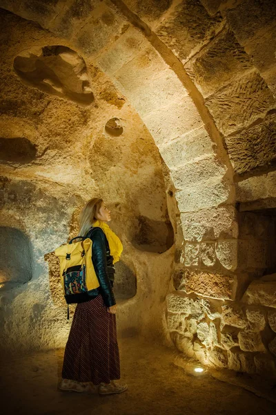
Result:
[[[0,227],[0,291],[21,286],[32,278],[30,240],[21,230]]]

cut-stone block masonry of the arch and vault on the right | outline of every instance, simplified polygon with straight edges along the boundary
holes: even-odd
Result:
[[[175,230],[167,340],[206,365],[275,375],[275,2],[1,3],[91,62],[159,149]]]

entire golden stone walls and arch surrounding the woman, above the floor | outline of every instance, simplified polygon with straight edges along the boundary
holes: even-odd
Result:
[[[275,2],[1,7],[3,347],[64,346],[53,251],[101,196],[119,336],[276,377]]]

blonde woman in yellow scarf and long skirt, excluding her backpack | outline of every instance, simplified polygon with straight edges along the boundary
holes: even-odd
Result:
[[[88,292],[87,302],[77,304],[66,344],[59,389],[83,392],[83,382],[99,385],[101,395],[121,394],[128,388],[120,378],[117,343],[117,304],[112,291],[115,268],[123,246],[107,222],[110,210],[102,199],[91,199],[80,215],[79,235],[92,239],[92,262],[99,288]]]

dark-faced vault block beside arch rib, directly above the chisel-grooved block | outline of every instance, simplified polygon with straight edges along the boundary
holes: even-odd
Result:
[[[206,48],[186,63],[185,68],[207,98],[244,75],[253,65],[232,30],[224,28]]]

